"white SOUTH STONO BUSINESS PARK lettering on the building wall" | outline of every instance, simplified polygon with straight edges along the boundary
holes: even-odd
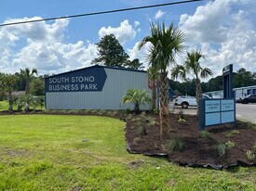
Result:
[[[94,76],[64,76],[48,79],[48,91],[97,91]]]

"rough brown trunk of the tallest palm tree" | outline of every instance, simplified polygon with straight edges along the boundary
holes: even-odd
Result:
[[[160,135],[161,138],[167,138],[170,131],[168,119],[168,72],[160,73]]]

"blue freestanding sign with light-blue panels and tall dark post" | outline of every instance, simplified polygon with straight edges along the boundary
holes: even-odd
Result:
[[[207,126],[236,122],[236,102],[233,96],[233,65],[222,69],[223,99],[199,101],[199,129]]]

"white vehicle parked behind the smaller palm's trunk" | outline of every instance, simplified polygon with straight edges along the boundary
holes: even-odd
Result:
[[[208,95],[202,95],[203,99],[211,99]],[[182,106],[182,108],[196,107],[195,96],[178,96],[175,100],[175,106]]]

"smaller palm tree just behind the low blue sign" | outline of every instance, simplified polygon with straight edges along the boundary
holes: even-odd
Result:
[[[208,78],[212,76],[212,71],[209,68],[202,68],[200,65],[200,59],[204,58],[204,55],[200,50],[192,51],[191,53],[187,52],[186,61],[183,65],[177,65],[171,71],[171,77],[178,78],[181,77],[185,79],[187,74],[193,76],[195,79],[195,96],[196,96],[196,104],[197,111],[196,116],[199,115],[199,100],[202,98],[202,87],[201,87],[201,79]]]

